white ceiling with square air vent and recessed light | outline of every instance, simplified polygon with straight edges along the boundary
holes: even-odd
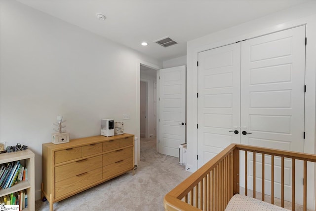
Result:
[[[19,0],[160,61],[186,55],[186,42],[307,0]],[[102,13],[106,20],[96,18]],[[178,44],[154,41],[169,36]],[[141,42],[147,41],[148,46]]]

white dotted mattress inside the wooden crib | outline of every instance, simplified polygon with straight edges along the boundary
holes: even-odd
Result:
[[[289,211],[287,209],[254,199],[249,196],[235,194],[229,201],[225,211]]]

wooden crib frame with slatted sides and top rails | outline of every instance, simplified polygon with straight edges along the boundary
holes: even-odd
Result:
[[[244,151],[245,160],[239,159],[239,152]],[[281,207],[284,207],[284,158],[292,159],[292,210],[295,210],[295,160],[304,163],[304,197],[303,210],[307,210],[307,162],[316,164],[316,155],[282,151],[270,148],[231,144],[195,173],[181,182],[164,198],[166,211],[224,211],[234,194],[239,193],[239,162],[247,166],[247,154],[253,154],[253,169],[256,169],[256,154],[271,155],[272,181],[271,199],[274,204],[274,157],[281,158]],[[245,168],[245,175],[247,175]],[[262,201],[265,200],[264,181],[265,165],[262,165]],[[256,196],[256,171],[253,171],[253,197]],[[245,176],[245,195],[247,195],[247,176]],[[315,205],[316,207],[316,205]]]

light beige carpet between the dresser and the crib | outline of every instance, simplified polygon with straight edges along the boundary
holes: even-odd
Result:
[[[159,154],[155,139],[141,139],[140,147],[134,176],[130,171],[56,202],[54,211],[164,211],[164,195],[191,173],[178,158]],[[35,210],[49,211],[48,202],[36,201]]]

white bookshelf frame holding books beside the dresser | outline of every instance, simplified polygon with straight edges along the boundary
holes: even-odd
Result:
[[[27,168],[27,179],[20,181],[7,189],[0,190],[0,197],[9,195],[10,193],[15,193],[20,190],[26,190],[28,194],[28,208],[23,211],[35,211],[35,156],[30,150],[23,150],[18,152],[9,152],[0,154],[0,164],[8,163],[12,161],[20,161],[24,163]]]

